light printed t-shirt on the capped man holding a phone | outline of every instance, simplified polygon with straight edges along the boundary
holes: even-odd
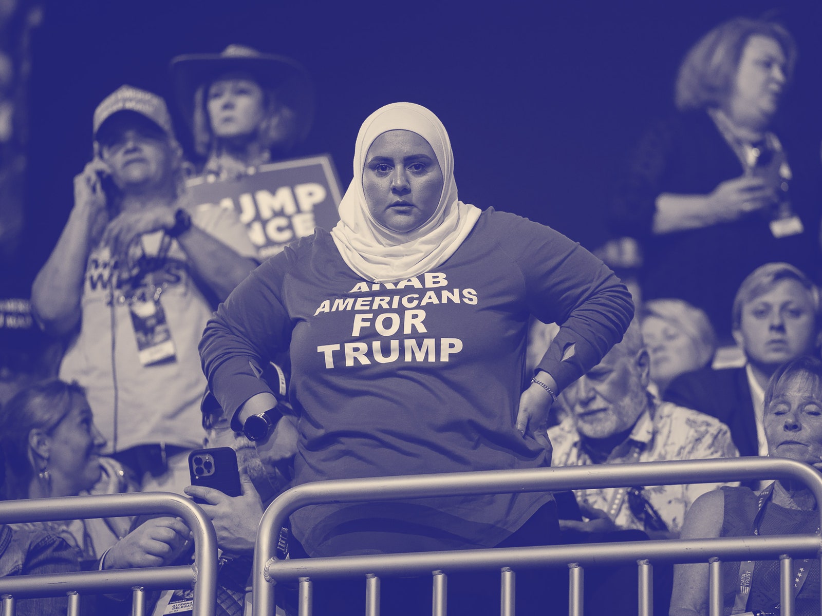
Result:
[[[198,205],[189,210],[192,223],[240,255],[256,258],[256,250],[233,210]],[[145,234],[145,255],[158,255],[163,233]],[[122,451],[140,444],[166,443],[201,447],[200,401],[205,389],[197,345],[215,309],[192,278],[191,264],[176,240],[159,260],[152,283],[161,288],[173,359],[143,365],[132,315],[108,247],[91,252],[81,300],[81,326],[63,358],[60,378],[86,389],[95,424],[108,441],[104,451]],[[117,287],[114,292],[112,288]],[[113,301],[112,301],[113,297]],[[112,336],[112,332],[114,335]]]

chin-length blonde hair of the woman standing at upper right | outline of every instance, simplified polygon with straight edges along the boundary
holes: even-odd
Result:
[[[790,80],[797,61],[797,44],[784,26],[774,21],[734,17],[705,34],[686,54],[677,76],[677,109],[716,108],[725,103],[737,76],[742,51],[748,39],[757,34],[774,39],[782,48],[785,76]]]

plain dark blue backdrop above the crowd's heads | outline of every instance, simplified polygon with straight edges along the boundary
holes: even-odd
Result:
[[[607,239],[603,213],[626,151],[672,108],[681,57],[718,22],[765,13],[799,47],[777,131],[792,165],[818,174],[822,2],[46,2],[30,83],[25,252],[7,274],[27,284],[53,248],[72,177],[90,159],[97,103],[123,83],[169,98],[171,57],[231,43],[307,67],[317,113],[295,154],[330,153],[344,186],[363,119],[386,103],[421,103],[450,133],[462,200],[593,249]]]

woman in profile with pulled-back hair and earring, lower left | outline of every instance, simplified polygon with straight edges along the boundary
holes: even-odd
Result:
[[[83,388],[58,379],[30,385],[0,410],[0,444],[9,499],[45,499],[132,491],[122,467],[101,457]],[[132,531],[130,518],[23,522],[18,530],[48,531],[77,549],[83,568],[154,567],[173,561],[189,531],[175,517],[157,517]]]

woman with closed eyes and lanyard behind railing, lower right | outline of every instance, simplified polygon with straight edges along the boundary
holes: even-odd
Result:
[[[822,468],[822,362],[800,357],[780,366],[769,380],[764,399],[764,432],[769,455],[787,457]],[[818,532],[819,513],[805,485],[775,481],[760,492],[725,486],[703,494],[690,508],[682,528],[685,539]],[[769,614],[780,602],[779,563],[723,563],[725,614]],[[709,603],[708,564],[674,568],[671,616],[706,616]],[[742,577],[750,577],[742,593]],[[794,614],[820,612],[818,559],[793,561]]]

